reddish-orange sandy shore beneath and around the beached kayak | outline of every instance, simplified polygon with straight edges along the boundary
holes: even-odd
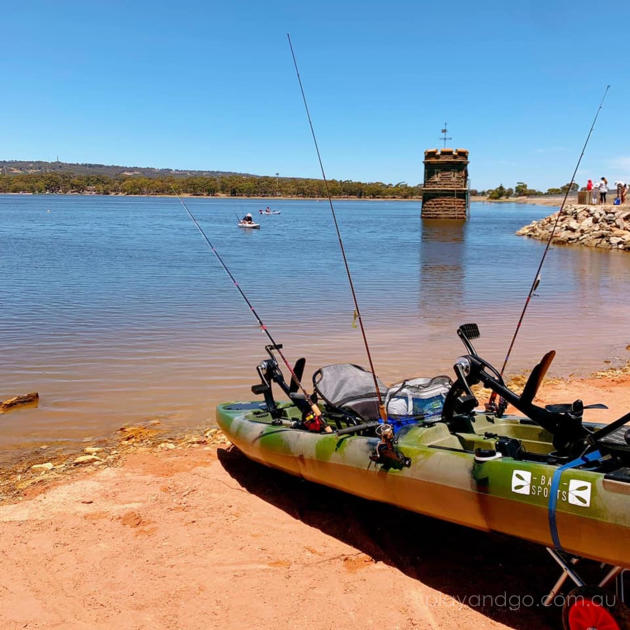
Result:
[[[612,419],[629,382],[620,371],[543,396],[604,401]],[[0,507],[0,628],[559,627],[535,605],[557,577],[541,547],[318,487],[216,441],[89,468],[43,474]]]

